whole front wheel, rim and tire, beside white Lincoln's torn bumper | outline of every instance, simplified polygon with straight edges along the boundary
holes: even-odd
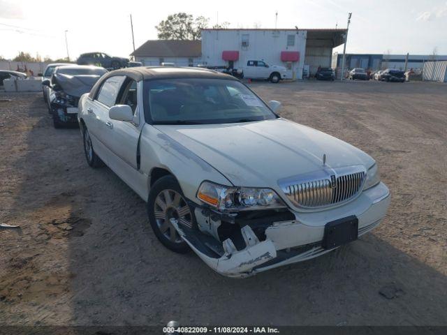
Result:
[[[186,253],[189,246],[180,237],[171,220],[179,227],[192,228],[193,214],[175,177],[168,175],[157,180],[147,200],[147,215],[155,236],[163,246],[176,252]]]

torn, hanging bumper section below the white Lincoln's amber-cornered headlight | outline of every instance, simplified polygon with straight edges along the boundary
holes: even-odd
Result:
[[[226,239],[222,244],[223,254],[207,252],[210,248],[201,237],[205,234],[198,230],[179,227],[175,219],[171,219],[179,235],[186,241],[193,251],[214,271],[219,274],[234,278],[243,278],[254,275],[254,267],[261,265],[277,257],[277,251],[270,239],[259,241],[253,230],[246,225],[241,228],[246,247],[238,251],[231,239]]]

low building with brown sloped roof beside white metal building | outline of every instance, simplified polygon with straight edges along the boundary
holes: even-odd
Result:
[[[145,66],[197,66],[202,62],[201,54],[200,40],[147,40],[131,56]]]

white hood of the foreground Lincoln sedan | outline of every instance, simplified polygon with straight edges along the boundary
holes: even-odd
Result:
[[[277,181],[374,160],[351,144],[286,119],[219,125],[156,125],[235,186],[278,188]]]

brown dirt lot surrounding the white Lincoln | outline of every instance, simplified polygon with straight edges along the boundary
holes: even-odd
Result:
[[[145,202],[87,166],[41,94],[0,94],[0,325],[447,325],[447,85],[254,83],[360,147],[390,187],[372,233],[242,280],[163,248]]]

